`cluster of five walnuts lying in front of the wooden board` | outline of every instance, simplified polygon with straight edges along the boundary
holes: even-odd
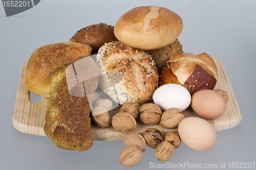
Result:
[[[124,148],[119,156],[120,163],[125,166],[134,166],[139,163],[148,147],[155,149],[156,158],[167,161],[172,158],[181,140],[178,133],[169,132],[165,136],[156,128],[148,128],[143,136],[136,132],[128,133],[124,138]]]

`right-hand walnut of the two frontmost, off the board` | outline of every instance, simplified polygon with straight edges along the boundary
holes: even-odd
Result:
[[[156,148],[155,155],[160,161],[167,161],[174,155],[174,146],[167,141],[162,141]]]

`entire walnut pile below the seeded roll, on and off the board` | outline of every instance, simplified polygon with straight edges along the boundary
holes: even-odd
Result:
[[[99,99],[93,109],[92,120],[99,127],[110,125],[108,106],[112,107],[110,100]],[[136,119],[146,125],[160,124],[165,128],[177,128],[184,114],[178,108],[171,108],[162,113],[161,108],[153,103],[143,104],[141,107],[137,103],[129,102],[122,105],[120,112],[112,117],[113,128],[120,133],[126,133],[124,138],[124,148],[120,153],[120,163],[125,166],[133,166],[139,163],[143,157],[143,152],[148,147],[155,149],[156,158],[160,161],[169,160],[174,150],[180,146],[181,140],[178,133],[169,132],[165,136],[156,128],[148,128],[143,135],[133,132],[137,128]]]

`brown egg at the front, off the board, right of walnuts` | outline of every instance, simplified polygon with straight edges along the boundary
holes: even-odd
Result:
[[[217,135],[214,127],[200,117],[186,117],[178,126],[181,140],[191,149],[205,151],[214,146]]]

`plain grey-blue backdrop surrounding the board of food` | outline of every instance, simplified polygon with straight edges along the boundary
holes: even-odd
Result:
[[[77,30],[94,23],[114,26],[126,11],[147,5],[166,7],[181,16],[184,29],[179,40],[184,52],[206,52],[223,61],[242,112],[238,126],[217,132],[212,149],[195,151],[182,143],[168,162],[219,168],[221,163],[228,168],[229,162],[256,162],[256,1],[45,0],[11,17],[0,5],[0,169],[151,169],[150,162],[164,163],[147,147],[139,164],[126,167],[119,164],[123,141],[94,141],[88,151],[66,151],[48,137],[24,134],[12,125],[20,68],[37,47],[69,41]]]

